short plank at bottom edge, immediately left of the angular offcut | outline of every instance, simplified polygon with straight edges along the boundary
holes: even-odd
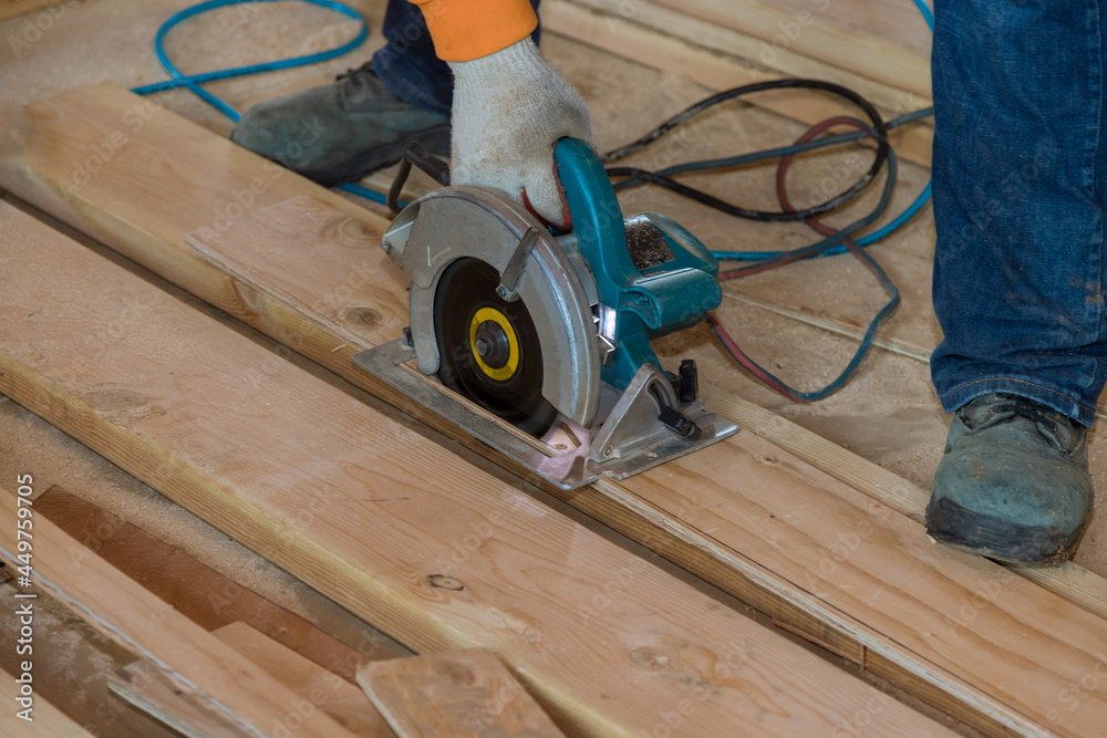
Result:
[[[225,625],[214,635],[291,689],[300,698],[298,705],[302,711],[325,713],[355,736],[394,736],[365,694],[334,672],[311,663],[246,623]],[[387,662],[369,662],[360,668],[372,663]]]

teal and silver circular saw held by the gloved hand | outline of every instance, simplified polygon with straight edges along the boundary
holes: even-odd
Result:
[[[583,142],[561,139],[555,159],[571,232],[483,187],[399,212],[382,247],[411,279],[411,328],[354,362],[569,489],[737,428],[697,398],[694,362],[666,372],[650,345],[718,305],[711,251],[665,216],[624,218]]]

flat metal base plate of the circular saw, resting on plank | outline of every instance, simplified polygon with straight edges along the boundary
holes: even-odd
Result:
[[[544,443],[446,388],[437,378],[421,374],[408,365],[414,358],[415,351],[402,340],[396,340],[354,354],[353,362],[421,406],[433,410],[451,425],[566,490],[582,487],[602,477],[625,479],[710,446],[738,429],[733,423],[715,416],[696,403],[681,409],[703,432],[697,440],[670,434],[633,454],[597,462],[589,458],[589,449],[593,437],[599,433],[597,428],[600,424],[589,430],[562,416],[555,429],[546,436],[551,443]]]

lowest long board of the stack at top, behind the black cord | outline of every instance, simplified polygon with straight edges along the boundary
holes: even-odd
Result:
[[[766,72],[753,62],[704,49],[684,39],[664,35],[633,20],[601,13],[568,0],[545,2],[542,22],[549,31],[646,66],[686,74],[712,90],[726,90],[786,76]],[[748,102],[811,125],[844,113],[856,115],[856,108],[842,105],[829,95],[801,90],[766,92],[751,97]],[[892,132],[889,142],[904,159],[930,166],[932,127],[903,126]]]

